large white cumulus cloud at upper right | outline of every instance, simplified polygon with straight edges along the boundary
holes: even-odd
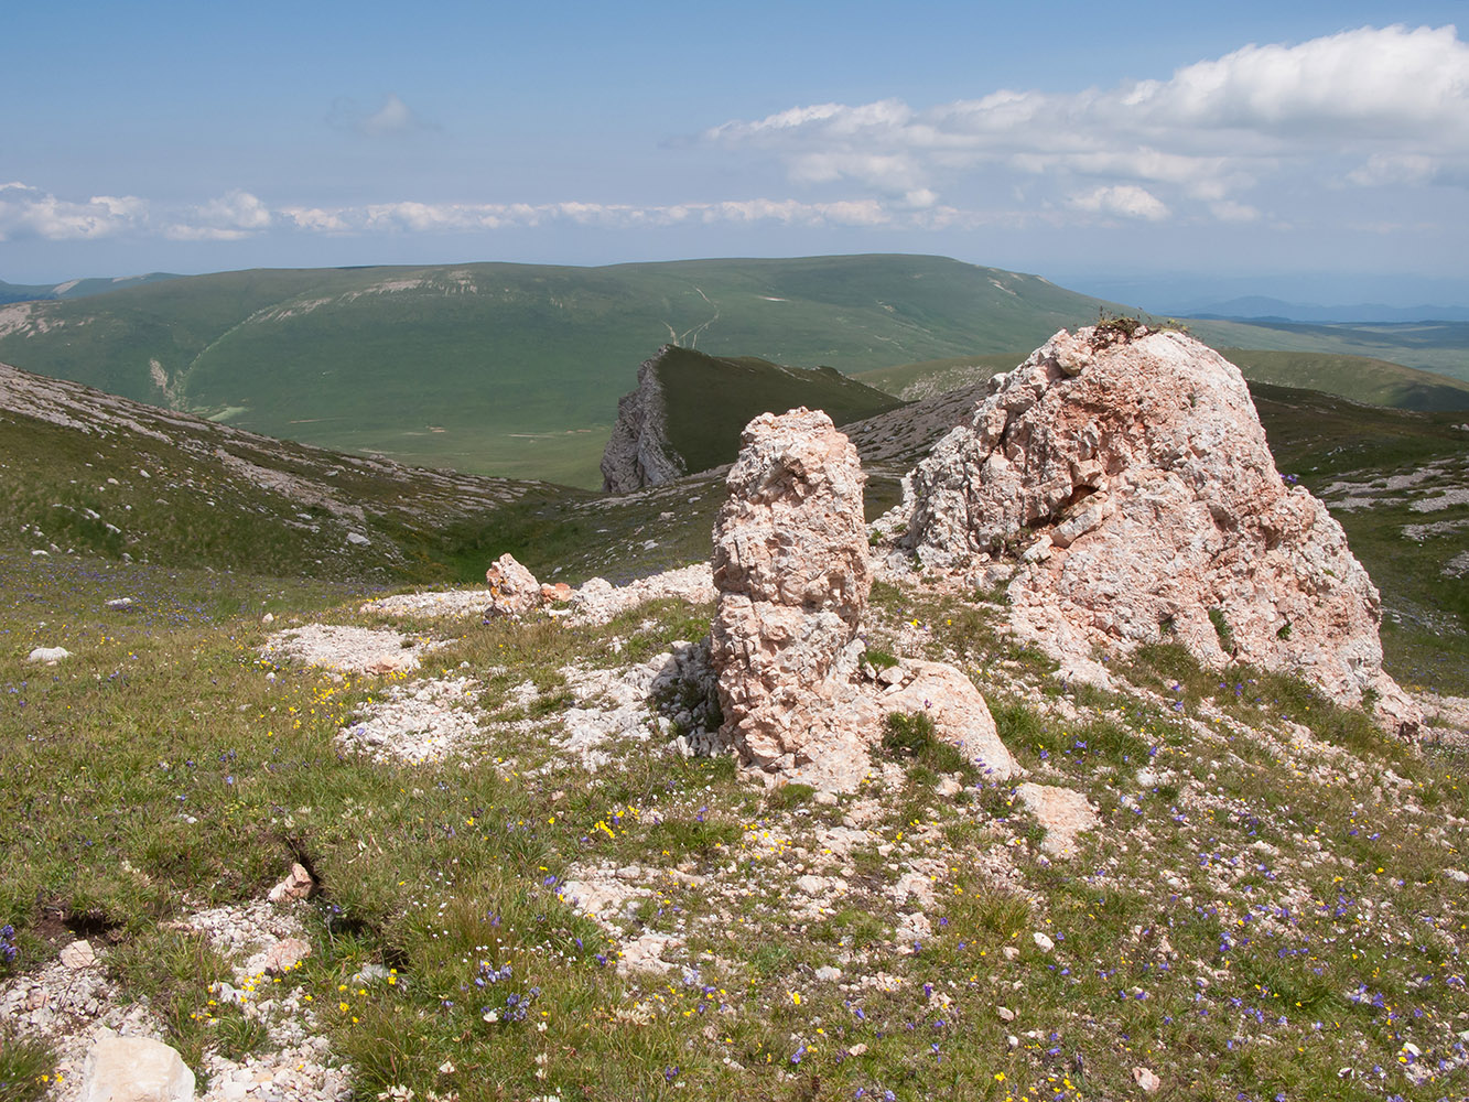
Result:
[[[1156,219],[1162,190],[1197,217],[1244,220],[1259,215],[1244,192],[1287,175],[1459,179],[1445,166],[1469,159],[1469,46],[1453,26],[1360,28],[1246,46],[1162,81],[999,90],[925,109],[823,103],[726,122],[704,140],[764,151],[806,187],[936,203],[1022,173],[1078,212]]]

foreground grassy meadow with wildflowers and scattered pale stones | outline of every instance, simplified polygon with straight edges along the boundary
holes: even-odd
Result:
[[[0,989],[75,1005],[68,1034],[129,1008],[201,1090],[331,1065],[358,1099],[460,1102],[1071,1102],[1143,1098],[1140,1070],[1197,1102],[1463,1095],[1463,751],[1299,680],[1153,647],[1102,692],[993,602],[877,585],[871,649],[956,664],[1025,779],[1096,811],[1056,852],[1019,779],[921,717],[873,732],[855,793],[680,755],[626,686],[708,605],[483,624],[322,582],[0,570]],[[292,622],[436,649],[344,674],[263,651]],[[605,685],[638,701],[613,733]],[[370,752],[411,699],[463,733]],[[266,905],[292,862],[311,896]],[[310,949],[276,976],[217,936],[261,914]],[[40,1102],[81,1054],[25,1015],[0,1081]]]

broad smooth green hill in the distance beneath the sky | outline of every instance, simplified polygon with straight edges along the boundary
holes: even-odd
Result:
[[[849,373],[1028,350],[1099,306],[911,256],[257,270],[0,307],[0,360],[272,436],[598,485],[661,344]]]

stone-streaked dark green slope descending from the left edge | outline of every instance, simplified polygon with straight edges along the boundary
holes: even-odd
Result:
[[[520,542],[582,491],[323,451],[0,364],[0,548],[272,576],[483,575],[464,530]]]

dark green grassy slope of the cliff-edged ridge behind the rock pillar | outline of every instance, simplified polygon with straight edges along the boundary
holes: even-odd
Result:
[[[751,417],[798,406],[826,410],[837,425],[902,406],[890,394],[830,367],[804,370],[754,357],[724,359],[670,348],[658,360],[668,444],[686,470],[733,463]]]

